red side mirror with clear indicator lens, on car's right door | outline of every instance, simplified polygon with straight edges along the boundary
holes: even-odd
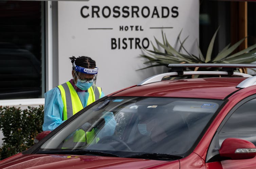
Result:
[[[252,142],[227,138],[220,147],[220,156],[232,160],[252,159],[256,156],[256,147]]]

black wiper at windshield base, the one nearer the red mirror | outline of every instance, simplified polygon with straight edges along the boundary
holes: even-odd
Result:
[[[126,156],[127,158],[143,158],[150,160],[179,160],[182,156],[171,155],[171,154],[160,154],[160,153],[140,153]]]

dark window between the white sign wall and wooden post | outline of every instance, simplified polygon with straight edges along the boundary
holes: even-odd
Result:
[[[231,43],[231,2],[200,0],[199,44],[205,56],[209,43],[218,29],[212,56],[217,56],[226,45]]]

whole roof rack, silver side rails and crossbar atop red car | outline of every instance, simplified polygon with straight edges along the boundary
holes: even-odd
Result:
[[[166,76],[183,76],[183,75],[229,75],[229,76],[240,76],[248,77],[248,79],[241,82],[237,87],[244,88],[256,84],[256,76],[251,76],[246,73],[234,72],[237,68],[256,68],[256,64],[218,64],[218,63],[185,63],[185,64],[168,64],[170,68],[168,73],[162,73],[159,75],[152,76],[142,81],[138,86],[159,82]],[[188,67],[219,67],[220,71],[186,71]]]

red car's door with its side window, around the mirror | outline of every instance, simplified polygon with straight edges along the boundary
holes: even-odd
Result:
[[[206,157],[206,168],[256,168],[256,157],[230,160],[220,156],[219,149],[227,138],[247,140],[256,145],[256,96],[237,104],[225,117],[217,130]],[[231,147],[232,145],[230,145]],[[240,147],[242,148],[242,147]],[[252,147],[253,148],[253,147]]]

